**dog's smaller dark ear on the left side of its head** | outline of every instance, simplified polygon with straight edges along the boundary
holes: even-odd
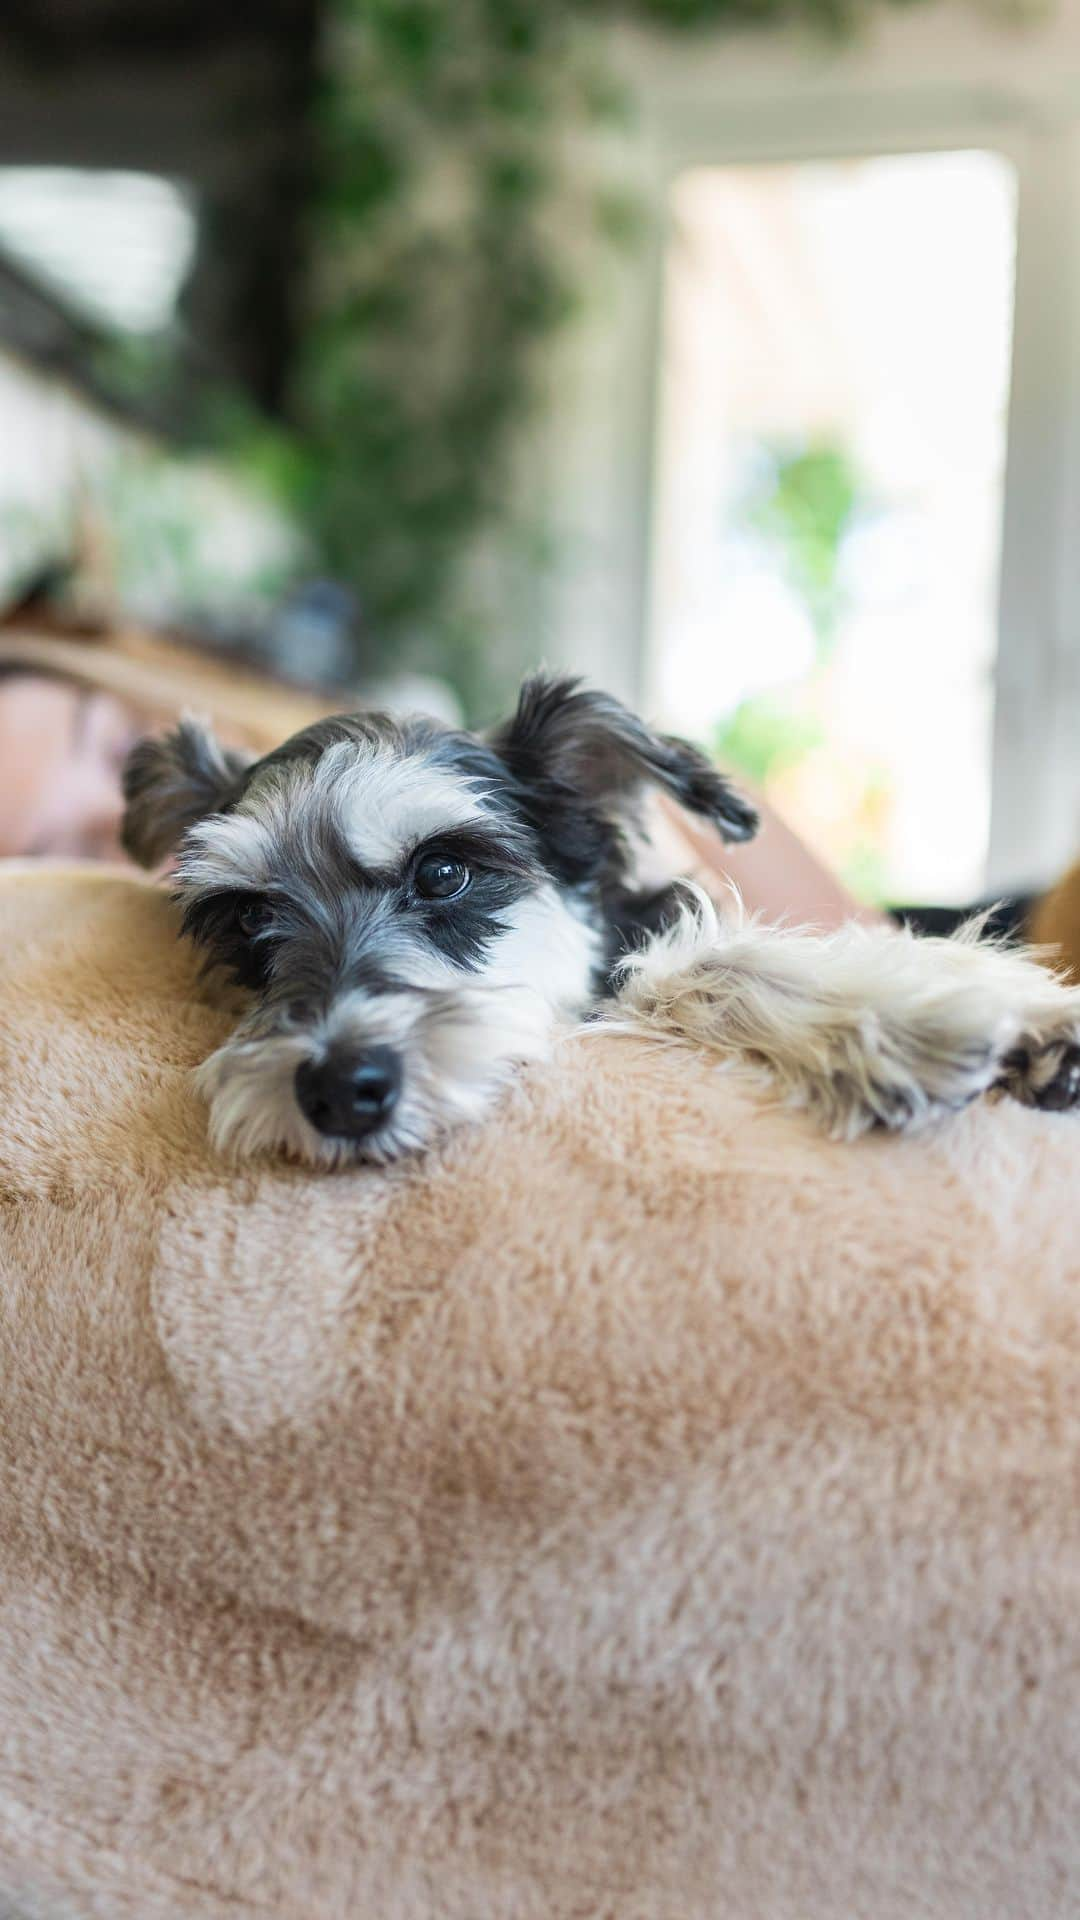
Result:
[[[160,866],[196,820],[219,814],[240,789],[252,755],[221,747],[198,720],[140,739],[123,768],[125,851],[140,866]]]

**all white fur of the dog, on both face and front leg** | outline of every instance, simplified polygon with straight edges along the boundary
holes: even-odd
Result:
[[[484,795],[427,753],[342,741],[311,766],[261,770],[233,814],[192,828],[184,889],[259,887],[300,856],[319,862],[327,822],[357,864],[400,866],[448,828],[490,820]],[[596,912],[596,908],[594,908]],[[400,991],[346,991],[321,1021],[256,1008],[200,1071],[213,1139],[238,1154],[284,1148],[334,1164],[296,1104],[296,1068],[332,1046],[390,1044],[402,1096],[365,1158],[427,1146],[486,1112],[511,1069],[544,1054],[561,1021],[588,1012],[603,933],[588,904],[553,883],[507,908],[477,973],[415,939],[390,906],[371,908],[369,952]],[[1036,1102],[1080,1041],[1080,991],[1028,954],[978,941],[915,939],[857,924],[821,935],[721,918],[703,893],[663,937],[630,956],[600,1031],[646,1031],[767,1069],[828,1131],[919,1127],[1003,1085]]]

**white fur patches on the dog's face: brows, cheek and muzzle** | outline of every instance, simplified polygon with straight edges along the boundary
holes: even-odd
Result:
[[[402,760],[392,747],[346,741],[315,768],[267,768],[233,814],[196,826],[184,889],[259,887],[288,860],[290,841],[317,858],[327,814],[361,866],[388,868],[429,835],[484,818],[484,804],[427,756]],[[400,991],[348,989],[317,1021],[256,1006],[198,1075],[215,1144],[238,1156],[284,1148],[323,1165],[356,1158],[350,1142],[319,1135],[296,1102],[296,1069],[334,1046],[390,1044],[404,1062],[402,1096],[386,1127],[365,1139],[365,1158],[390,1160],[477,1119],[517,1064],[546,1052],[555,1023],[586,1008],[601,948],[584,904],[550,883],[503,918],[505,931],[473,973],[373,902],[371,952]]]

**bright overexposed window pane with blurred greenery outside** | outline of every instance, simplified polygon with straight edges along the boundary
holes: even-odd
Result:
[[[653,710],[755,776],[863,895],[974,899],[1013,169],[698,169],[673,215]]]

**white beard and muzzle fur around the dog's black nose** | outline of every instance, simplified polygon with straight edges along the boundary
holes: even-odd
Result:
[[[256,1008],[198,1069],[213,1146],[236,1158],[284,1152],[313,1165],[384,1165],[482,1119],[513,1069],[544,1058],[557,1027],[528,987],[473,985],[348,995],[317,1027]],[[392,1046],[404,1064],[392,1116],[363,1140],[319,1133],[296,1100],[296,1069],[331,1044]]]

